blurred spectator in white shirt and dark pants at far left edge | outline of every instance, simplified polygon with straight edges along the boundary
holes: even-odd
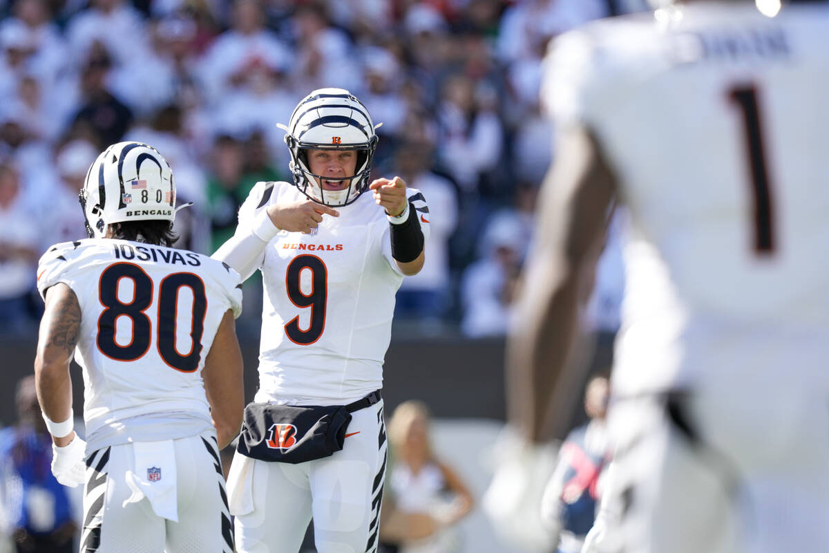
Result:
[[[40,256],[40,221],[22,201],[20,173],[0,164],[0,331],[27,332],[27,299],[35,286]]]

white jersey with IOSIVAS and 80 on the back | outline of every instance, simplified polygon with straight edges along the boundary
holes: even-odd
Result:
[[[212,428],[201,370],[227,310],[241,312],[235,270],[187,250],[90,239],[41,257],[41,296],[58,283],[80,303],[89,452]]]

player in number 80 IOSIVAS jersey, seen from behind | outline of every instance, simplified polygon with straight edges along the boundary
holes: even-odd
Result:
[[[147,144],[101,153],[80,201],[90,239],[52,246],[38,268],[35,360],[52,472],[85,483],[80,549],[230,553],[219,450],[245,403],[239,274],[170,247],[176,187]],[[86,443],[72,429],[73,355]]]

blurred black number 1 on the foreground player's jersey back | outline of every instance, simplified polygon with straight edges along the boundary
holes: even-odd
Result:
[[[768,255],[774,250],[774,219],[766,156],[763,148],[763,125],[754,86],[739,86],[729,91],[729,99],[743,114],[745,141],[751,162],[751,190],[754,197],[754,250]]]

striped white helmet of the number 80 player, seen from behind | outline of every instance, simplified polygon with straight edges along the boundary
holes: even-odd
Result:
[[[101,153],[86,173],[80,206],[90,238],[106,235],[122,221],[170,221],[176,216],[172,168],[158,150],[139,142],[119,142]]]

